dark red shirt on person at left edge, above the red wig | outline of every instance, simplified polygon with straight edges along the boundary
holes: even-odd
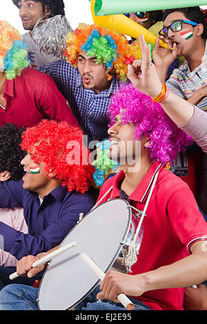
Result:
[[[79,126],[55,81],[37,70],[25,68],[19,77],[6,80],[3,97],[6,109],[0,106],[0,126],[31,127],[42,119]]]

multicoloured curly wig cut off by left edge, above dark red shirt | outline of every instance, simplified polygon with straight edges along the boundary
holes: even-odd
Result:
[[[27,45],[18,30],[0,21],[0,69],[4,70],[7,79],[14,79],[29,65],[27,54]]]

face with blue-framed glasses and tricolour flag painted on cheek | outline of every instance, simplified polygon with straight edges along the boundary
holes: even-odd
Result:
[[[189,21],[189,19],[185,17],[183,12],[175,11],[168,14],[164,21],[164,27],[170,26],[171,23],[179,19]],[[168,29],[167,40],[169,40],[172,45],[173,43],[177,44],[178,56],[189,56],[189,54],[195,50],[197,36],[197,26],[193,27],[188,23],[182,23],[182,29],[179,32],[172,32],[170,28]]]

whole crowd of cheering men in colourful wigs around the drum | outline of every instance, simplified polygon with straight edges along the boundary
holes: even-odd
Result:
[[[0,24],[2,36],[13,35],[0,70],[0,310],[38,310],[46,264],[32,263],[56,250],[95,204],[119,198],[143,211],[155,178],[131,272],[109,270],[75,309],[123,310],[124,293],[134,310],[207,310],[204,12],[126,13],[168,49],[158,38],[152,46],[143,35],[128,41],[80,24],[58,59],[39,50],[32,30],[39,19],[65,16],[63,0],[12,1],[28,32],[21,39]],[[11,77],[22,40],[27,51]],[[99,190],[89,157],[106,139],[119,172]]]

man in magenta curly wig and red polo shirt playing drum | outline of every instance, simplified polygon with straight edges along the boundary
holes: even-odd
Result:
[[[149,67],[144,59],[142,68]],[[164,88],[152,101],[132,85],[126,85],[112,99],[108,110],[110,158],[119,162],[123,170],[103,184],[98,203],[121,197],[144,210],[152,183],[156,178],[157,181],[144,216],[137,262],[131,272],[106,272],[100,289],[95,288],[77,305],[77,310],[124,310],[117,304],[117,295],[121,293],[132,296],[134,310],[184,310],[184,287],[207,278],[206,221],[188,185],[166,170],[167,162],[190,143],[189,136],[177,128],[156,102],[167,96]],[[21,259],[17,273],[37,274],[43,266],[31,270],[36,259]],[[34,287],[9,285],[0,293],[1,310],[38,310],[37,292]],[[104,301],[97,302],[97,298]]]

